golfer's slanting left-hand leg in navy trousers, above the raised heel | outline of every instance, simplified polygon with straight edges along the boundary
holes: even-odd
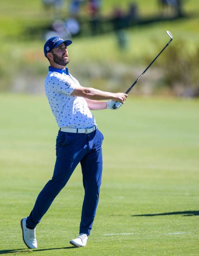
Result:
[[[83,158],[84,152],[81,149],[82,144],[87,142],[86,139],[81,140],[81,143],[78,143],[75,134],[72,134],[67,138],[66,142],[65,140],[65,133],[59,132],[56,141],[57,158],[54,173],[52,179],[47,182],[38,195],[34,208],[27,218],[26,225],[29,229],[34,229],[40,222],[54,198],[65,186],[72,172],[80,162],[81,158]]]

